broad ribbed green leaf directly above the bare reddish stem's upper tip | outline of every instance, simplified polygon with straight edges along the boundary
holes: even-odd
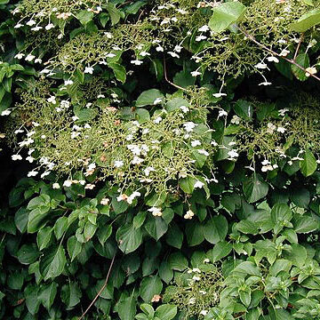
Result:
[[[116,231],[116,241],[125,254],[134,252],[142,243],[141,229],[134,228],[133,223],[122,226]]]

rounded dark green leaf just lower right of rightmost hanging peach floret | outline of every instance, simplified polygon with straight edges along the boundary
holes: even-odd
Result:
[[[223,215],[217,215],[204,225],[204,238],[211,244],[224,240],[228,233],[228,221]]]

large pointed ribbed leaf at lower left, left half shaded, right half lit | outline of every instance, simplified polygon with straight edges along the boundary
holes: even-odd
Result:
[[[56,276],[60,276],[67,263],[66,255],[61,245],[53,245],[44,251],[44,256],[40,260],[40,272],[44,276],[44,281]]]

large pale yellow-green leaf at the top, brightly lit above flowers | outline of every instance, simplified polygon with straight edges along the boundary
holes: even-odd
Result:
[[[213,9],[209,27],[213,32],[222,32],[236,21],[244,17],[246,8],[240,2],[228,2],[220,4]]]

